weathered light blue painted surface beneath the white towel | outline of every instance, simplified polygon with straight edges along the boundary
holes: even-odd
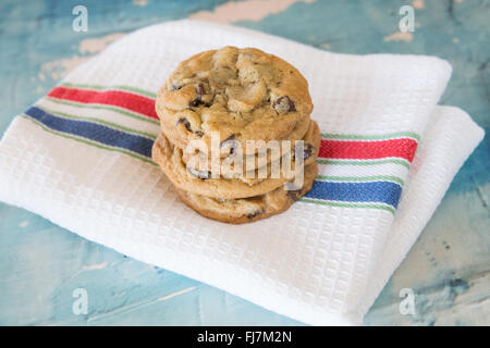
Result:
[[[489,1],[413,1],[416,32],[390,40],[409,1],[267,0],[246,3],[233,24],[345,53],[415,53],[446,59],[453,77],[441,103],[490,128]],[[100,51],[113,33],[183,18],[226,21],[224,1],[2,1],[0,133],[63,74]],[[88,32],[72,30],[72,9],[88,9]],[[230,21],[229,21],[230,22]],[[88,40],[87,39],[96,39]],[[464,136],[464,134],[462,134]],[[490,141],[478,147],[407,259],[365,319],[367,325],[490,324]],[[74,315],[72,293],[88,293]],[[416,314],[399,311],[413,288]],[[128,259],[25,210],[0,203],[0,324],[294,325],[235,296]]]

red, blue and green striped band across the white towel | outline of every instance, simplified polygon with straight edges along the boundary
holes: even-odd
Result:
[[[52,134],[125,153],[155,165],[150,158],[156,135],[145,132],[151,126],[134,128],[139,121],[158,124],[155,98],[156,94],[128,86],[63,83],[46,97],[52,103],[45,102],[46,107],[39,102],[22,116]],[[131,119],[118,122],[117,114],[105,113],[99,113],[100,117],[87,116],[84,111],[86,109],[109,110]],[[339,170],[333,172],[339,175],[318,175],[313,189],[299,201],[341,208],[379,209],[394,213],[420,137],[413,132],[384,135],[323,133],[321,136],[317,162],[320,165],[336,166]],[[372,170],[357,170],[356,166],[359,165],[369,165]],[[396,165],[401,165],[400,170]],[[327,166],[321,171],[322,174],[329,173]],[[385,171],[389,173],[381,175]],[[352,173],[371,175],[355,176]]]

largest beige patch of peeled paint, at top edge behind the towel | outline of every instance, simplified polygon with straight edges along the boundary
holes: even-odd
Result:
[[[233,23],[238,21],[260,21],[268,15],[284,11],[293,3],[311,3],[316,0],[245,0],[241,2],[229,1],[213,11],[199,11],[191,14],[193,20],[211,21],[218,23]]]

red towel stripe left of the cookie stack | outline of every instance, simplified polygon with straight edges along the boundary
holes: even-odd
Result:
[[[56,87],[49,94],[49,97],[83,102],[88,104],[106,104],[124,108],[148,117],[158,120],[155,111],[155,100],[148,97],[139,96],[123,90],[86,90],[78,88]]]

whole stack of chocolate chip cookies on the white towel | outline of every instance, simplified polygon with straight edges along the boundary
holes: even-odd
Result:
[[[152,160],[204,216],[246,223],[311,189],[320,132],[308,84],[282,59],[224,47],[183,61],[158,94]]]

